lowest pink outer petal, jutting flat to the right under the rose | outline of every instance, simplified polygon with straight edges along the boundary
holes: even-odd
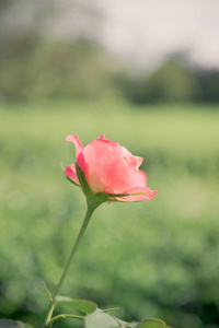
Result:
[[[134,188],[128,190],[127,192],[129,192],[129,195],[127,196],[123,196],[123,197],[115,197],[116,200],[118,201],[141,201],[145,199],[150,199],[152,200],[152,198],[158,194],[157,190],[151,190],[150,188]]]

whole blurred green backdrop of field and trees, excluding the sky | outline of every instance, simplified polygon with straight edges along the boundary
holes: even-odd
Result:
[[[104,133],[143,156],[158,195],[96,210],[62,294],[127,320],[219,327],[219,71],[182,51],[139,70],[93,35],[53,37],[60,9],[37,3],[0,2],[0,317],[41,326],[42,279],[55,289],[85,211],[62,174],[76,160],[65,138]],[[96,10],[72,3],[99,26]]]

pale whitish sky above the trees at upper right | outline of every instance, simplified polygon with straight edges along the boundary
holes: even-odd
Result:
[[[150,66],[185,51],[197,65],[219,68],[219,0],[94,2],[104,14],[99,38],[114,54]]]

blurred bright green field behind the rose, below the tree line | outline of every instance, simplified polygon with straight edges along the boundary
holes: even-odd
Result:
[[[53,291],[84,214],[82,192],[60,167],[76,159],[65,137],[85,145],[103,133],[145,157],[158,195],[96,210],[62,294],[119,306],[127,320],[218,327],[218,108],[16,104],[0,107],[0,121],[1,317],[43,320],[41,279]]]

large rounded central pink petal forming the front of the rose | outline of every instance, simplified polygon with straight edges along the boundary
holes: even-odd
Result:
[[[94,194],[124,194],[138,187],[138,176],[118,143],[99,138],[83,150],[87,181]]]

